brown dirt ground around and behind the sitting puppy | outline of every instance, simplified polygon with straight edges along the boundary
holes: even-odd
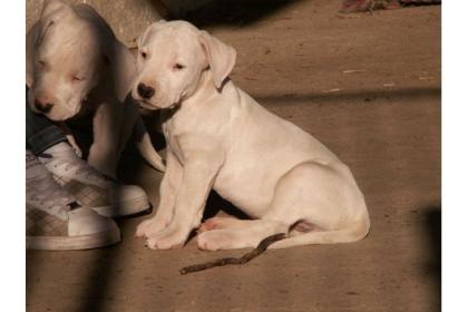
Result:
[[[440,7],[344,16],[338,0],[273,2],[205,25],[237,50],[240,87],[351,167],[370,235],[182,276],[246,251],[150,251],[133,236],[147,216],[119,220],[116,246],[27,252],[28,311],[439,311]],[[131,157],[120,167],[157,207],[160,176]]]

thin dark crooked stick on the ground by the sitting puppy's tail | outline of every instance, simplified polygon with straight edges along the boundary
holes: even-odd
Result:
[[[274,234],[274,235],[271,235],[271,236],[264,238],[262,242],[260,242],[260,244],[256,246],[256,248],[254,248],[253,251],[244,254],[241,257],[217,259],[215,261],[209,261],[209,262],[205,262],[205,263],[201,263],[201,264],[185,266],[185,267],[181,269],[178,272],[181,272],[181,275],[185,275],[185,274],[188,274],[188,273],[198,272],[198,271],[203,271],[203,270],[215,267],[215,266],[223,266],[223,265],[230,265],[230,264],[244,264],[244,263],[247,263],[248,261],[251,261],[252,259],[259,256],[260,254],[262,254],[274,242],[281,241],[285,237],[286,237],[286,235],[284,233]]]

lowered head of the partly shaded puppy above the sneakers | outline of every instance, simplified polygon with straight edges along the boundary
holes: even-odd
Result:
[[[71,7],[46,1],[32,48],[32,81],[28,101],[32,110],[65,120],[81,108],[98,84],[105,59],[98,31]]]

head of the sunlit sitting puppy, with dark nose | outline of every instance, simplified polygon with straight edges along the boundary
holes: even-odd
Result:
[[[138,40],[131,95],[146,108],[169,108],[193,96],[208,70],[221,89],[235,56],[232,47],[188,22],[153,23]]]

